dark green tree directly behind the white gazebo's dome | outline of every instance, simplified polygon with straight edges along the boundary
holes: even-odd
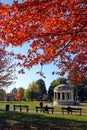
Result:
[[[60,77],[60,78],[57,78],[56,80],[54,80],[53,82],[51,82],[51,85],[49,86],[49,89],[48,89],[48,99],[52,101],[53,99],[53,95],[54,95],[54,88],[57,86],[57,85],[60,85],[60,84],[68,84],[67,83],[67,79],[66,78],[63,78],[63,77]]]

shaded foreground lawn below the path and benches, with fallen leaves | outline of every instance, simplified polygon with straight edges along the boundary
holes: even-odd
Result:
[[[12,130],[87,130],[87,121],[65,115],[0,111],[0,126]]]

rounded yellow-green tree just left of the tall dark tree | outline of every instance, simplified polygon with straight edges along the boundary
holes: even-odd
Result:
[[[31,101],[39,99],[39,86],[35,82],[29,84],[29,87],[25,90],[25,97]]]

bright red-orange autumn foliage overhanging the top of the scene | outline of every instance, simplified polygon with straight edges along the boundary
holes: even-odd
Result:
[[[5,46],[28,42],[27,55],[17,54],[21,67],[30,69],[53,62],[60,69],[53,74],[60,75],[73,67],[77,72],[75,83],[80,83],[87,76],[87,1],[16,0],[11,6],[0,3],[0,39]],[[42,71],[38,73],[44,76]],[[72,75],[73,70],[69,77]]]

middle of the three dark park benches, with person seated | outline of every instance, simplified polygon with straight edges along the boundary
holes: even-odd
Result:
[[[49,112],[51,112],[53,114],[54,107],[47,107],[47,110],[46,110],[46,106],[44,106],[44,107],[36,106],[36,113],[38,111],[43,112],[43,113],[49,113]]]

